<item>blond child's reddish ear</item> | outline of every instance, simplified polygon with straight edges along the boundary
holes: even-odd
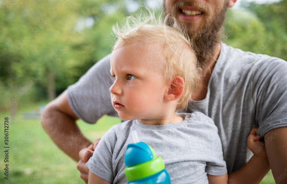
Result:
[[[164,95],[167,101],[173,101],[181,97],[184,90],[184,81],[181,77],[176,76],[172,79],[168,92]]]

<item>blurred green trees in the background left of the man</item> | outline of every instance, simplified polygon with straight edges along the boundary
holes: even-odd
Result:
[[[110,53],[110,29],[128,13],[124,3],[1,1],[0,107],[19,93],[24,93],[22,103],[25,98],[37,101],[47,98],[49,90],[59,94],[75,83]],[[38,81],[23,90],[32,77]]]

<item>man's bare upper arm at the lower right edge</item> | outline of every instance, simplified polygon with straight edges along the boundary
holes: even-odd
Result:
[[[287,127],[269,130],[264,141],[275,182],[287,183]]]

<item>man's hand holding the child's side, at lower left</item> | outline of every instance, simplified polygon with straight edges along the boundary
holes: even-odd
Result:
[[[90,171],[86,166],[86,163],[92,157],[99,141],[100,139],[97,139],[89,147],[84,148],[79,152],[80,161],[77,164],[77,169],[80,171],[80,177],[85,181],[86,184],[88,183],[89,171]]]

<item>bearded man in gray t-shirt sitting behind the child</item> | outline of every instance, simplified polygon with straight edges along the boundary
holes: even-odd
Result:
[[[192,106],[218,127],[228,173],[249,160],[247,137],[251,128],[265,141],[270,167],[277,183],[287,183],[287,63],[279,58],[243,52],[220,42],[226,10],[236,0],[164,0],[171,14],[186,30],[197,54],[202,77]],[[174,19],[168,19],[172,25]],[[65,153],[78,161],[80,177],[87,183],[86,162],[99,140],[84,137],[75,120],[95,123],[104,114],[116,116],[110,102],[110,55],[97,62],[80,80],[50,102],[42,125]],[[77,139],[73,135],[77,134]],[[73,139],[73,140],[72,140]],[[256,172],[256,171],[250,171]],[[282,177],[282,175],[284,177]]]

